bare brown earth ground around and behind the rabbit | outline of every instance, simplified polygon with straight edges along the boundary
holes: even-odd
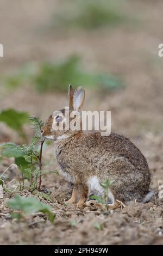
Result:
[[[42,187],[52,191],[53,203],[49,204],[56,215],[54,225],[42,215],[27,216],[20,222],[11,220],[4,194],[4,200],[0,199],[0,244],[162,244],[163,199],[158,198],[158,186],[163,185],[163,60],[157,54],[162,42],[162,1],[128,1],[128,13],[139,16],[140,26],[68,35],[44,31],[43,24],[52,9],[58,8],[59,1],[1,2],[1,43],[5,47],[5,57],[0,59],[1,73],[28,60],[55,60],[76,52],[83,55],[90,70],[105,70],[123,77],[127,87],[116,93],[98,95],[87,90],[85,109],[111,111],[112,131],[129,137],[146,156],[156,195],[153,202],[133,202],[109,214],[103,214],[96,206],[76,211],[73,206],[67,209],[62,204],[70,197],[72,186],[61,176],[48,174],[43,177]],[[0,108],[14,107],[45,120],[54,109],[67,105],[66,95],[38,94],[28,84],[14,92],[0,86]],[[27,133],[30,138],[29,127]],[[0,142],[4,141],[20,143],[16,134],[1,125]],[[44,169],[58,169],[52,146],[45,149],[43,161]],[[4,160],[0,173],[9,164]],[[13,186],[15,182],[16,179]],[[99,230],[95,223],[101,224]]]

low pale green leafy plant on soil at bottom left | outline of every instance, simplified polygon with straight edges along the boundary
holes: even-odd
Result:
[[[54,214],[51,206],[40,202],[34,197],[21,197],[17,195],[13,199],[8,200],[7,204],[12,209],[21,211],[19,214],[16,213],[16,215],[12,215],[12,217],[21,218],[26,214],[43,212],[43,214],[47,214],[52,223],[54,221]]]

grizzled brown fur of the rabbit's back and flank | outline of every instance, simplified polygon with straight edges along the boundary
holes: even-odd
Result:
[[[76,182],[96,176],[99,181],[114,180],[111,191],[117,199],[127,202],[142,201],[151,181],[149,168],[141,151],[126,137],[111,133],[83,133],[58,145],[58,162],[67,175]]]

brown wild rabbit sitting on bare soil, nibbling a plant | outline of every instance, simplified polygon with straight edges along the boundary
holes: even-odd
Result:
[[[69,108],[82,111],[85,90],[69,87]],[[109,187],[109,202],[131,200],[148,202],[153,192],[149,191],[151,175],[148,163],[139,149],[126,137],[111,133],[101,136],[100,132],[86,133],[82,130],[56,130],[54,123],[65,125],[65,109],[49,116],[43,125],[42,137],[54,140],[55,156],[62,175],[73,182],[72,197],[68,204],[76,203],[81,208],[91,193],[103,196],[99,182],[113,180]],[[69,122],[72,120],[70,118]],[[82,125],[82,124],[81,124]]]

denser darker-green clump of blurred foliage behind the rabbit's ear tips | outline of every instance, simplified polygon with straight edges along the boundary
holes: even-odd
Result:
[[[79,57],[70,56],[59,63],[42,63],[39,72],[34,76],[34,83],[39,91],[67,91],[67,84],[90,83],[91,77],[82,73],[78,67]]]

